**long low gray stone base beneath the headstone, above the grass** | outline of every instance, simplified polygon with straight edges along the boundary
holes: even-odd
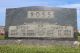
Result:
[[[0,40],[0,45],[24,44],[24,45],[73,45],[74,40],[52,40],[52,39],[8,39]]]

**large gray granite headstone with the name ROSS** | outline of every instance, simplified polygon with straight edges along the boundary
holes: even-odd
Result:
[[[9,38],[28,38],[34,43],[71,43],[76,39],[77,12],[75,8],[44,6],[9,8],[5,29]]]

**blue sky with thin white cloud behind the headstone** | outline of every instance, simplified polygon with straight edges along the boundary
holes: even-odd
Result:
[[[80,30],[80,0],[0,0],[0,26],[5,26],[6,8],[50,6],[77,9],[77,26]]]

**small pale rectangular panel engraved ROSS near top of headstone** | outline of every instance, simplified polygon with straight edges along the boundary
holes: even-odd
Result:
[[[53,11],[28,11],[28,18],[54,18]]]

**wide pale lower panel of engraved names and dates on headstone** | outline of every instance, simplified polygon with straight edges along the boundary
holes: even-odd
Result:
[[[9,27],[9,37],[73,37],[72,26],[60,26],[53,24],[25,24]]]

